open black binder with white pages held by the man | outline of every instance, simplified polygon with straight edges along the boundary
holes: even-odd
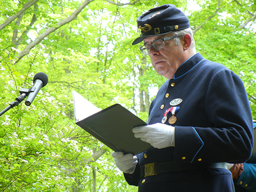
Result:
[[[77,101],[77,97],[80,97],[79,101]],[[87,131],[115,152],[119,151],[124,154],[132,153],[137,155],[152,148],[151,144],[135,138],[132,132],[133,127],[146,125],[147,123],[129,110],[123,108],[120,104],[109,106],[86,118],[77,119],[77,108],[83,108],[84,111],[90,111],[89,108],[93,108],[92,103],[89,103],[84,98],[81,101],[81,97],[81,95],[73,91],[76,124],[83,130]],[[89,108],[87,108],[87,104],[82,106],[81,102],[89,103]]]

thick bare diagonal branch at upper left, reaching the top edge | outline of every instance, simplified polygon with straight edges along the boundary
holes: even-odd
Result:
[[[31,42],[29,45],[27,45],[27,47],[22,52],[20,52],[18,54],[18,59],[15,62],[17,63],[20,59],[22,59],[25,55],[27,55],[30,52],[30,50],[33,47],[35,47],[35,45],[39,44],[39,42],[42,39],[44,39],[46,36],[48,36],[50,33],[54,32],[55,30],[57,30],[61,26],[66,25],[66,24],[72,22],[72,20],[76,19],[77,15],[82,11],[82,9],[93,1],[94,0],[87,0],[86,2],[82,3],[77,8],[77,10],[75,10],[68,18],[65,18],[65,19],[61,20],[60,22],[55,24],[55,27],[48,28],[44,33],[40,34],[33,42]]]

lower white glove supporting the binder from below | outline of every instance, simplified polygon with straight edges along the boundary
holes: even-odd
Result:
[[[112,157],[114,157],[116,166],[126,174],[133,174],[135,167],[138,163],[137,157],[133,154],[123,155],[122,152],[113,152]]]

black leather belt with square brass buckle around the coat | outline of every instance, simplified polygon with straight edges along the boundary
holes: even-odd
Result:
[[[140,167],[140,177],[142,178],[168,172],[180,172],[182,170],[205,168],[227,168],[227,166],[226,163],[180,163],[174,161],[148,163]]]

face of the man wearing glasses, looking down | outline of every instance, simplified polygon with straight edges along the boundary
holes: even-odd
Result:
[[[169,36],[172,36],[172,34],[147,37],[144,39],[144,45],[150,45],[155,40]],[[184,62],[183,54],[182,40],[181,44],[176,46],[174,39],[164,41],[164,48],[161,50],[156,50],[151,46],[150,52],[148,53],[156,72],[168,79],[173,78],[178,67]]]

